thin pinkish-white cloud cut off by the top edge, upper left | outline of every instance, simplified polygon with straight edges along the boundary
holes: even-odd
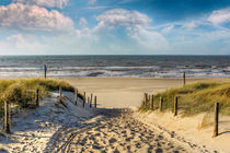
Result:
[[[19,2],[24,4],[37,4],[48,8],[64,8],[68,4],[69,0],[12,0],[12,2]]]

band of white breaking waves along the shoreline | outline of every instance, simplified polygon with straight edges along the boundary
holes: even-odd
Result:
[[[164,68],[160,66],[149,67],[48,67],[48,76],[131,76],[131,78],[182,78],[186,72],[187,78],[227,78],[230,75],[230,67]],[[0,68],[0,78],[14,76],[43,76],[43,67],[11,67]]]

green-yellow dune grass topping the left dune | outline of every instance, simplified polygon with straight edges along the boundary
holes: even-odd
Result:
[[[39,90],[39,98],[44,98],[48,92],[59,90],[59,86],[64,91],[74,91],[69,83],[56,79],[1,79],[0,115],[3,114],[5,101],[19,108],[34,108],[36,89]]]

